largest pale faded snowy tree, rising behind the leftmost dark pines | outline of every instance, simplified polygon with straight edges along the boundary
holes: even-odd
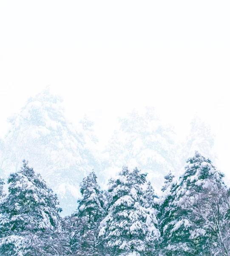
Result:
[[[90,170],[97,169],[91,166],[96,161],[85,148],[85,130],[78,132],[68,122],[61,97],[48,87],[28,99],[20,113],[9,118],[9,124],[4,140],[9,149],[8,169],[15,172],[23,159],[29,159],[59,196],[62,214],[71,213],[80,196],[77,185]],[[87,130],[89,124],[83,126]]]

